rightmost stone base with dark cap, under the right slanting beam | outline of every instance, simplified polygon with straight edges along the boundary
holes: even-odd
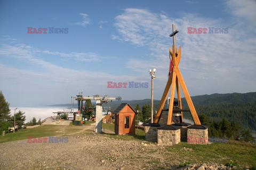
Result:
[[[204,125],[191,125],[187,131],[187,142],[195,144],[208,143],[208,127]]]

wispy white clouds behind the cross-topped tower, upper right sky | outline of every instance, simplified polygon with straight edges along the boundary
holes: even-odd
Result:
[[[242,5],[242,11],[251,11],[250,3],[246,4]],[[238,6],[236,8],[239,9]],[[243,16],[244,12],[239,13],[236,8],[234,12]],[[234,25],[234,22],[242,22],[243,27],[251,25],[236,16],[228,22],[194,14],[185,14],[184,17],[175,19],[176,28],[180,30],[177,45],[182,45],[180,68],[183,76],[188,79],[188,84],[194,85],[195,93],[255,91],[255,75],[252,73],[256,71],[254,30],[243,32],[243,27]],[[155,67],[158,79],[162,79],[165,84],[165,75],[169,69],[168,47],[172,45],[172,38],[169,37],[172,23],[173,19],[162,13],[143,9],[126,9],[123,14],[118,15],[114,25],[119,34],[113,35],[113,39],[136,46],[147,46],[150,53],[148,61],[130,59],[127,67],[135,71]],[[187,34],[187,27],[228,28],[228,34]],[[239,34],[238,30],[241,30]]]

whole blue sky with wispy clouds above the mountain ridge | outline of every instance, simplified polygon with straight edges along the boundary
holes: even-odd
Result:
[[[0,90],[11,106],[69,103],[70,96],[161,99],[172,23],[190,95],[255,92],[255,1],[0,1]],[[27,27],[68,34],[27,34]],[[187,27],[228,34],[187,34]],[[208,31],[207,31],[208,32]],[[48,31],[47,31],[48,33]],[[107,88],[107,82],[149,88]]]

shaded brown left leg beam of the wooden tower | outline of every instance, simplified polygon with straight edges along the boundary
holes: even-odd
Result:
[[[161,101],[159,103],[159,106],[158,106],[158,109],[156,111],[156,116],[154,118],[154,123],[158,123],[159,122],[159,119],[160,119],[160,116],[161,116],[161,112],[162,112],[162,109],[164,108],[164,103],[165,103],[167,95],[169,93],[171,84],[172,84],[172,72],[170,74],[170,77],[167,80],[167,83],[166,83],[166,86],[165,86],[165,89],[164,89],[164,93],[162,95],[162,99],[161,99]]]

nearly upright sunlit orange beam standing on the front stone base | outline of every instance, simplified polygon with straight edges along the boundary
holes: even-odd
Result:
[[[172,71],[172,87],[171,87],[171,96],[170,96],[170,103],[169,103],[169,111],[168,111],[168,119],[167,119],[167,125],[172,124],[172,110],[173,110],[173,101],[174,101],[174,93],[175,93],[175,82],[176,82],[176,71],[174,71],[175,68],[173,68]]]

